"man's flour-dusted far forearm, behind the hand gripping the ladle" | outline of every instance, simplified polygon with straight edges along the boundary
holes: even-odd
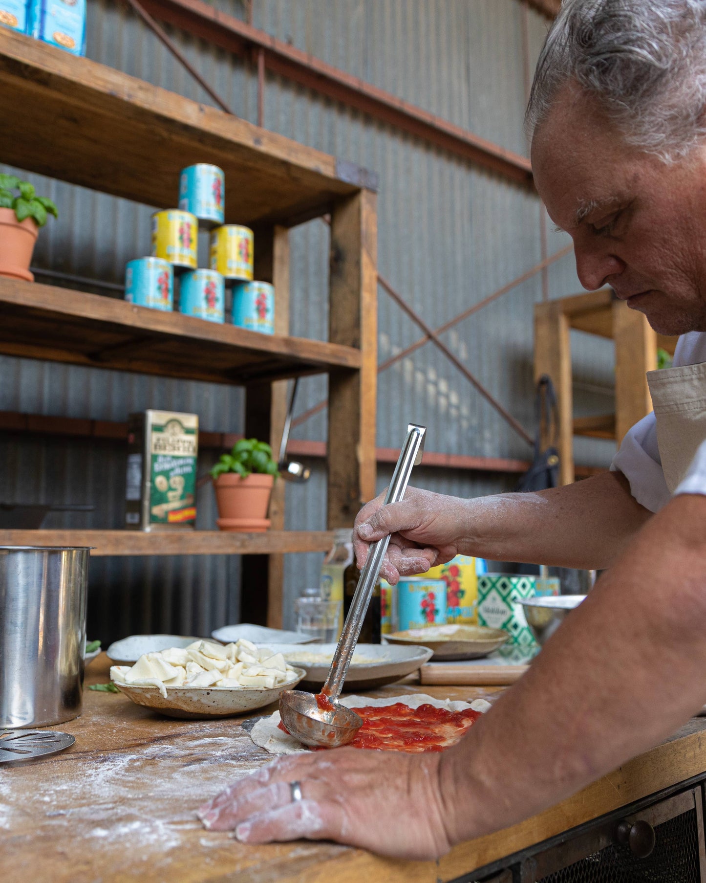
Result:
[[[650,516],[620,472],[605,472],[536,494],[467,501],[459,548],[492,561],[603,570]]]

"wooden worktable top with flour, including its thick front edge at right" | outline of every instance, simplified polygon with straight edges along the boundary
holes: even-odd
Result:
[[[107,681],[108,665],[101,654],[86,669],[86,683]],[[415,691],[462,699],[491,692],[402,683],[374,695]],[[86,691],[83,715],[54,729],[72,733],[76,743],[54,757],[0,767],[0,867],[7,880],[436,883],[706,771],[706,721],[694,719],[539,816],[462,843],[439,862],[401,862],[332,843],[247,846],[204,830],[194,816],[199,804],[272,759],[237,719],[174,721],[123,694]]]

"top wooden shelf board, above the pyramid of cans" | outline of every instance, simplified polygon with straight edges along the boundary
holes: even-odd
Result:
[[[176,208],[180,170],[214,162],[227,223],[298,223],[359,189],[349,163],[339,177],[333,156],[8,28],[0,115],[23,120],[0,162],[159,208]]]

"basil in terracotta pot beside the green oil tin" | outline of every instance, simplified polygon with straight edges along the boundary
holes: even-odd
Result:
[[[241,439],[211,470],[222,531],[266,531],[267,506],[279,475],[272,448],[257,439]]]

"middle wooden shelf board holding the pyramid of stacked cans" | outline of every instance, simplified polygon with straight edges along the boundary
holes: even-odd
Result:
[[[0,277],[0,352],[216,383],[357,369],[360,351]]]

